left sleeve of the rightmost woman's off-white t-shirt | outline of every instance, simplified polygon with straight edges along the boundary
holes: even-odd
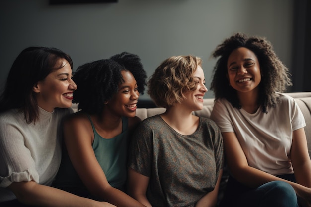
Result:
[[[228,109],[223,100],[219,99],[215,102],[210,118],[218,125],[221,132],[234,132]]]

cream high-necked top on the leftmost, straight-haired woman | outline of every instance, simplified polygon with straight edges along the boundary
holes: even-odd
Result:
[[[12,182],[51,185],[61,162],[61,119],[69,113],[39,108],[35,124],[16,109],[0,114],[0,202],[16,199],[6,188]]]

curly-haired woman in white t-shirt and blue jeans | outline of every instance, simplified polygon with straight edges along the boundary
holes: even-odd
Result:
[[[292,83],[271,43],[237,33],[213,57],[211,119],[230,171],[223,206],[311,206],[306,124],[294,99],[281,93]]]

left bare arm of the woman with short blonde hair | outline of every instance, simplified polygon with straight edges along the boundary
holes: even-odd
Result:
[[[128,168],[128,192],[129,195],[146,207],[152,207],[146,197],[149,177],[146,177],[132,168]]]

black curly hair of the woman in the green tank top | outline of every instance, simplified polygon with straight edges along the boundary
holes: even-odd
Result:
[[[133,74],[138,91],[143,94],[147,75],[141,60],[137,55],[123,52],[78,67],[73,77],[78,86],[73,103],[79,103],[78,109],[89,114],[101,113],[104,103],[118,92],[119,84],[124,82],[121,71]]]

